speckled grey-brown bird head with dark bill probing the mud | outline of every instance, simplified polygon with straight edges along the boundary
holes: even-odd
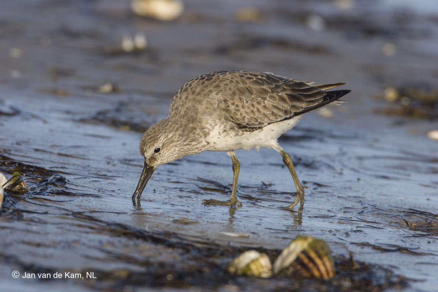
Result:
[[[161,164],[180,159],[187,155],[181,145],[178,131],[174,123],[168,119],[161,120],[151,127],[141,137],[140,153],[145,157],[145,166],[141,172],[134,198],[140,198],[153,172]]]

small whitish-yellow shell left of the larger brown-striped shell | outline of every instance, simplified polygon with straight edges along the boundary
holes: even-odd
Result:
[[[272,276],[272,266],[268,256],[256,250],[248,250],[242,253],[231,262],[228,271],[232,274],[260,278],[269,278]]]

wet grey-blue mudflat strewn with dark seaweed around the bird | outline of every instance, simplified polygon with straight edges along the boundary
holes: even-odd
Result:
[[[181,19],[160,23],[134,17],[119,1],[4,5],[0,171],[19,171],[30,188],[8,193],[1,209],[5,291],[438,285],[438,144],[426,135],[436,120],[388,116],[381,109],[391,104],[373,98],[388,86],[436,90],[436,11],[391,1],[355,1],[350,10],[329,1],[188,1]],[[244,7],[260,17],[237,17]],[[124,35],[138,32],[146,50],[114,53]],[[202,204],[231,190],[229,157],[211,152],[159,167],[132,201],[141,132],[166,117],[184,82],[232,69],[347,82],[353,90],[348,104],[306,115],[280,141],[308,186],[303,213],[278,209],[293,201],[294,186],[278,153],[265,149],[237,152],[242,208]],[[108,82],[117,90],[102,93]],[[274,259],[297,235],[328,242],[336,278],[226,272],[241,252]],[[14,279],[12,271],[84,279]]]

